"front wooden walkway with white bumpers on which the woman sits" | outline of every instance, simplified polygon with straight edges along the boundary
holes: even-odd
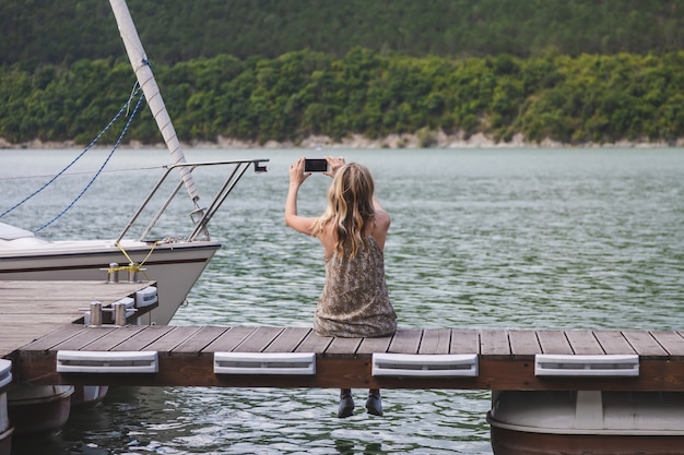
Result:
[[[148,373],[58,372],[58,352],[73,351],[95,357],[99,352],[153,352],[156,367]],[[217,372],[215,358],[226,352],[251,356],[257,364],[260,356],[309,354],[315,372]],[[437,367],[418,375],[412,371],[374,374],[374,354],[378,352],[409,355],[412,361],[429,361],[435,355],[471,356],[476,371],[444,376]],[[565,359],[561,362],[582,356],[630,356],[637,371],[633,375],[623,375],[620,369],[583,374],[580,367],[570,375],[542,375],[535,372],[538,355],[559,355]],[[318,336],[308,327],[68,324],[21,347],[12,360],[19,381],[34,384],[684,391],[684,334],[680,332],[406,328],[391,337],[340,338]]]

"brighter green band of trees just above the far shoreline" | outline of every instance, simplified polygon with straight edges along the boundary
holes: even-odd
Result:
[[[0,137],[13,143],[90,142],[134,81],[130,65],[114,60],[81,60],[69,71],[21,67],[0,72]],[[429,146],[439,131],[575,144],[684,137],[684,52],[455,60],[357,48],[342,59],[314,51],[220,56],[155,72],[188,142],[410,133]],[[129,139],[158,142],[150,110],[141,117]]]

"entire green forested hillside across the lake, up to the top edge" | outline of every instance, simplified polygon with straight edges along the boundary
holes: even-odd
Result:
[[[684,137],[684,0],[128,3],[188,142]],[[0,26],[5,143],[85,144],[126,103],[108,1],[2,1]],[[140,117],[128,139],[158,142]]]

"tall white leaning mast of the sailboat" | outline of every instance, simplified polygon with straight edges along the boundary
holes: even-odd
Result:
[[[111,11],[114,11],[117,25],[119,26],[119,33],[121,34],[121,39],[123,39],[128,58],[131,61],[131,65],[133,67],[133,71],[135,72],[135,76],[140,83],[140,87],[145,94],[148,105],[150,106],[150,110],[152,110],[152,116],[154,117],[157,128],[164,137],[164,142],[172,154],[174,164],[187,163],[182,152],[182,146],[176,135],[174,124],[172,123],[170,117],[166,111],[164,99],[162,99],[160,87],[154,80],[154,74],[152,74],[152,68],[149,64],[148,56],[142,47],[140,37],[138,36],[135,24],[133,24],[133,19],[128,11],[126,0],[109,0],[109,3],[111,4]],[[178,169],[180,170],[180,176],[186,190],[188,190],[188,194],[194,202],[196,208],[199,209],[198,201],[200,195],[194,187],[190,168],[182,166]]]

